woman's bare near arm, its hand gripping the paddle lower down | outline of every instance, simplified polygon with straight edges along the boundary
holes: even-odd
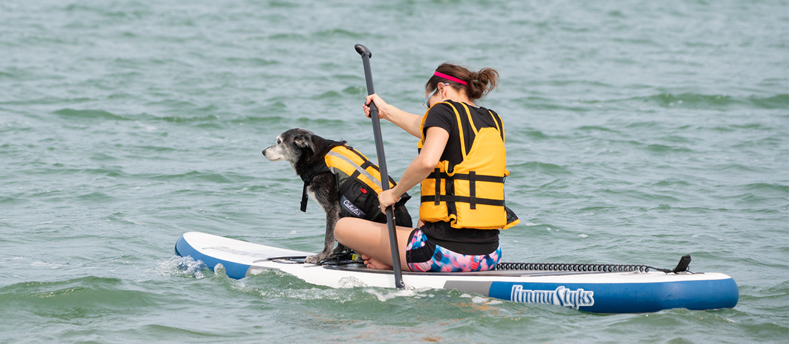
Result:
[[[428,175],[436,169],[443,150],[447,147],[448,140],[449,133],[446,129],[437,126],[428,128],[422,150],[417,155],[417,158],[413,159],[413,162],[406,168],[406,172],[402,174],[398,185],[378,195],[381,209],[386,209],[397,203],[403,193],[413,188],[413,185],[424,181],[424,178],[428,178]]]

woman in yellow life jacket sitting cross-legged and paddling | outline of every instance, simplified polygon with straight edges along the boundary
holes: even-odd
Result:
[[[507,153],[501,118],[477,107],[476,100],[495,88],[494,69],[471,72],[443,63],[425,84],[424,116],[409,114],[369,95],[386,119],[420,138],[419,155],[393,189],[380,193],[381,208],[396,203],[421,182],[417,229],[397,227],[403,270],[486,271],[501,258],[499,229],[518,223],[504,207]],[[346,217],[337,222],[335,238],[361,253],[365,264],[391,269],[386,224]]]

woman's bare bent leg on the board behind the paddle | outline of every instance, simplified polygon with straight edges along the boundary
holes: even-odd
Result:
[[[402,271],[411,271],[406,264],[406,245],[413,228],[395,227],[400,251],[400,267]],[[389,247],[389,227],[386,223],[378,223],[355,218],[339,219],[335,226],[335,239],[342,245],[353,249],[367,260],[368,267],[388,268],[392,266],[392,255]],[[366,258],[365,258],[366,257]]]

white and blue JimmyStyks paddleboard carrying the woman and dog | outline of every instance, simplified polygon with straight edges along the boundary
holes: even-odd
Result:
[[[368,269],[362,264],[305,264],[291,257],[313,253],[198,232],[182,235],[175,244],[175,253],[201,260],[211,270],[222,264],[233,279],[243,279],[253,271],[273,269],[333,288],[394,286],[392,271]],[[406,286],[417,289],[455,289],[507,301],[561,305],[596,313],[732,308],[739,299],[735,280],[719,273],[502,270],[403,272],[402,279]]]

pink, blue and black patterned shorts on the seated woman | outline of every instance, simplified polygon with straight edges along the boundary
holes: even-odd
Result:
[[[501,246],[494,252],[472,256],[452,252],[428,240],[428,236],[417,228],[411,232],[406,246],[406,262],[411,271],[422,272],[469,272],[488,271],[499,264]]]

